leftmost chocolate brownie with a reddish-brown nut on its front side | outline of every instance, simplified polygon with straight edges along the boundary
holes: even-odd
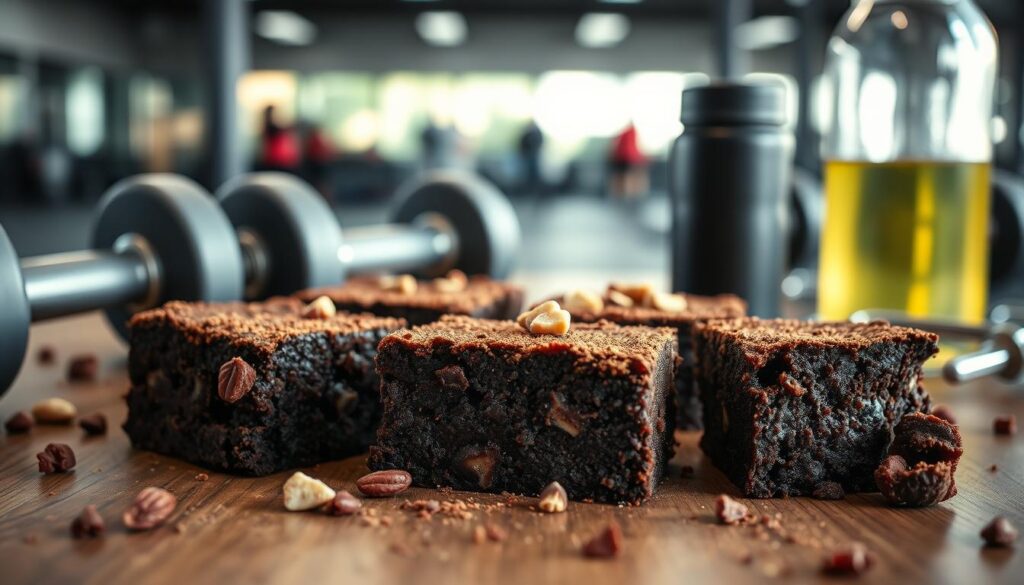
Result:
[[[170,302],[132,318],[132,444],[252,475],[364,453],[380,421],[377,343],[403,322],[302,309],[296,299]],[[226,372],[230,392],[218,388],[225,363],[243,374]]]

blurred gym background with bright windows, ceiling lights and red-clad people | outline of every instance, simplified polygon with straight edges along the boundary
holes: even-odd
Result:
[[[1000,43],[996,166],[1021,173],[1024,6],[978,3]],[[281,169],[357,225],[386,218],[418,170],[463,167],[513,199],[520,267],[662,270],[683,88],[783,84],[813,194],[822,58],[849,6],[0,0],[0,222],[20,255],[72,249],[122,177],[176,172],[215,190]]]

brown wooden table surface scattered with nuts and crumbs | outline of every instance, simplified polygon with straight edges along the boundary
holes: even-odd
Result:
[[[56,348],[56,366],[32,359],[42,344]],[[281,487],[289,473],[244,478],[211,472],[200,482],[195,465],[132,450],[119,427],[125,418],[125,350],[98,315],[34,327],[30,351],[14,387],[0,400],[0,419],[56,395],[75,403],[80,414],[104,413],[112,428],[95,438],[77,426],[0,434],[3,583],[830,582],[843,579],[820,574],[824,551],[851,541],[863,542],[877,556],[860,578],[864,582],[1024,582],[1024,542],[1017,551],[985,549],[978,537],[996,514],[1024,529],[1024,436],[991,431],[996,414],[1015,413],[1024,422],[1024,394],[1015,396],[996,382],[929,384],[934,398],[958,416],[966,449],[956,477],[959,495],[931,508],[890,508],[878,494],[838,502],[744,500],[758,513],[780,514],[781,529],[719,526],[714,498],[737,492],[700,455],[696,433],[680,433],[682,449],[670,477],[641,507],[573,503],[567,513],[547,515],[532,511],[529,498],[504,506],[502,497],[413,489],[394,499],[367,500],[378,518],[387,518],[374,527],[362,517],[286,511]],[[98,380],[62,381],[67,361],[83,352],[100,357]],[[35,454],[50,442],[75,449],[73,472],[38,472]],[[694,476],[682,478],[682,465],[692,465]],[[356,493],[353,482],[366,466],[357,457],[306,471]],[[146,486],[176,494],[178,508],[166,526],[130,534],[121,513]],[[480,506],[466,519],[422,519],[398,508],[419,498]],[[86,504],[98,507],[108,532],[73,540],[69,526]],[[581,543],[609,520],[622,526],[623,554],[583,558]],[[474,529],[487,524],[504,528],[507,540],[474,543]]]

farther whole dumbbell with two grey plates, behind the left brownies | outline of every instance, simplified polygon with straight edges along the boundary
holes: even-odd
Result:
[[[216,197],[239,234],[248,299],[366,273],[432,277],[459,268],[504,278],[519,248],[508,199],[467,172],[425,173],[395,194],[390,223],[346,229],[324,198],[294,175],[242,175]]]

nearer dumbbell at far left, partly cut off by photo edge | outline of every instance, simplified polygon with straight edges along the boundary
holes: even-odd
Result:
[[[241,298],[234,229],[202,186],[171,174],[125,179],[101,200],[92,249],[19,260],[0,227],[0,394],[22,366],[32,322],[105,308],[124,333],[135,310],[171,299]]]

